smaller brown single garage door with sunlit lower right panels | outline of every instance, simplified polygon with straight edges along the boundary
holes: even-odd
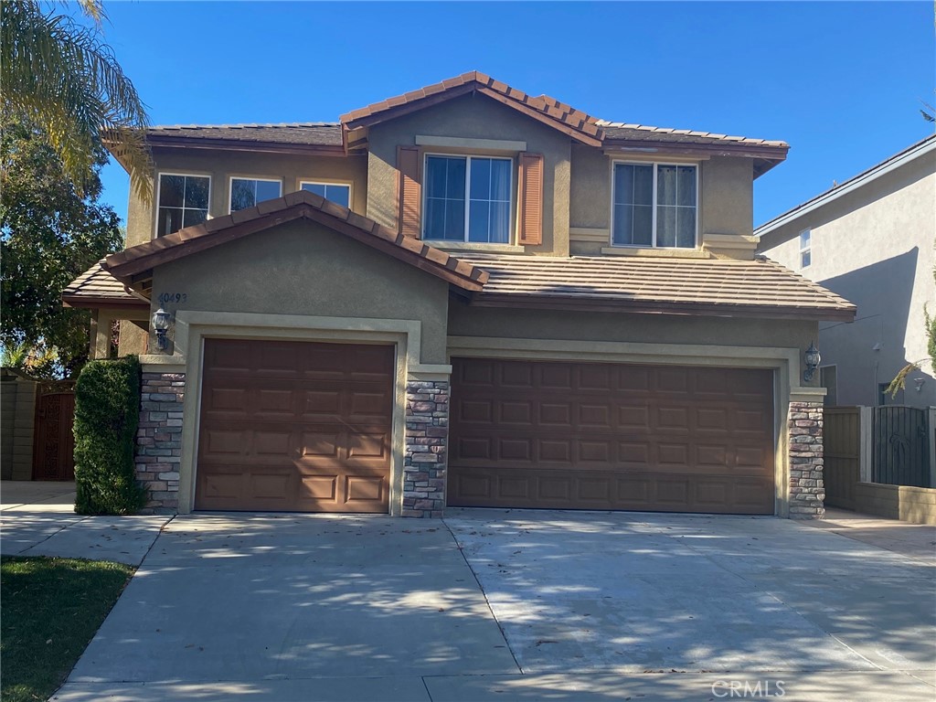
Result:
[[[387,512],[392,346],[208,339],[197,509]]]

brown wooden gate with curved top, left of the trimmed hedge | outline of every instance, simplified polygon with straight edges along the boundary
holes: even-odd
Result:
[[[75,393],[40,395],[36,403],[33,480],[75,479]]]

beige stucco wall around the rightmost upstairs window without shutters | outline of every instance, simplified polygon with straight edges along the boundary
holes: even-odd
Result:
[[[674,157],[675,158],[675,157]],[[615,161],[673,162],[665,154],[607,155],[600,149],[572,146],[572,186],[569,226],[592,229],[594,241],[576,241],[578,254],[598,254],[610,242],[611,183]],[[692,163],[685,156],[679,162]],[[712,156],[695,161],[699,166],[698,227],[700,243],[708,234],[750,237],[753,231],[753,161],[750,158]],[[598,234],[602,241],[598,240]],[[584,240],[584,237],[580,239]]]

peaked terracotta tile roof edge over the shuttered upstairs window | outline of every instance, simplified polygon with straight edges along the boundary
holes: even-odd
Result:
[[[391,97],[359,110],[352,110],[342,115],[341,121],[342,124],[351,129],[358,128],[358,126],[377,124],[384,119],[391,118],[401,108],[416,108],[420,101],[439,100],[445,97],[446,93],[454,97],[472,91],[489,95],[504,102],[508,107],[527,111],[528,114],[534,117],[538,116],[544,121],[562,126],[570,132],[573,138],[585,141],[593,146],[599,146],[601,143],[602,134],[598,126],[598,120],[585,112],[575,110],[548,95],[539,95],[538,97],[527,95],[479,71],[462,73],[461,76],[442,80],[421,90]]]

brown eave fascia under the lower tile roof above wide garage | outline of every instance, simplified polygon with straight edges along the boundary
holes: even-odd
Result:
[[[800,319],[809,321],[855,320],[854,306],[840,308],[797,307],[790,305],[743,305],[667,300],[621,300],[610,298],[563,297],[556,295],[522,295],[477,293],[472,296],[476,307],[514,307],[575,312],[612,312],[633,314],[675,314],[761,319]]]

